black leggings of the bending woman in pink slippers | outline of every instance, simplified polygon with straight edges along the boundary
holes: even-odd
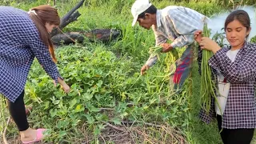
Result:
[[[22,94],[18,96],[15,102],[10,102],[7,100],[10,115],[18,126],[19,131],[24,131],[29,128],[29,123],[26,119],[26,110],[23,98],[24,90],[22,91]]]

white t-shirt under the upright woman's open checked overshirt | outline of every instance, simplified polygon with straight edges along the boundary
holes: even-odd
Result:
[[[230,58],[231,62],[234,62],[236,55],[238,54],[239,50],[229,50],[226,52],[226,56]],[[215,102],[215,111],[217,114],[222,115],[224,114],[224,110],[226,107],[226,100],[230,91],[230,82],[226,81],[226,78],[218,71],[218,91],[217,91],[217,98],[218,104],[221,107],[221,110],[218,107],[217,102]],[[222,111],[222,113],[221,113]]]

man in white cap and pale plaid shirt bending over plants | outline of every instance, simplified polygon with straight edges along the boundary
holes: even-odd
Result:
[[[134,17],[132,26],[137,21],[140,26],[147,30],[150,30],[152,26],[156,41],[155,45],[162,46],[162,53],[186,46],[181,58],[175,62],[176,70],[172,76],[174,90],[177,90],[190,74],[194,32],[202,30],[203,24],[208,18],[195,10],[183,6],[167,6],[162,10],[157,10],[148,0],[135,1],[131,7],[131,13]],[[172,42],[166,43],[168,39]],[[157,56],[150,56],[146,64],[142,66],[141,74],[145,74],[145,71],[150,66],[153,66],[157,59]]]

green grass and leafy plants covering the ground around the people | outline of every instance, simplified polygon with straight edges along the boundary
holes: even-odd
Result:
[[[53,4],[46,0],[0,4],[29,10],[47,2]],[[60,0],[56,7],[63,16],[78,2]],[[196,62],[182,94],[173,94],[170,89],[166,54],[145,76],[140,76],[148,48],[154,46],[154,34],[138,25],[131,27],[133,2],[86,1],[78,10],[82,14],[78,21],[66,26],[64,31],[111,28],[122,32],[122,38],[107,44],[86,40],[56,50],[58,69],[71,86],[70,94],[63,94],[59,86],[54,88],[52,80],[34,62],[25,88],[26,105],[33,107],[28,117],[30,126],[50,129],[46,138],[49,143],[222,143],[217,122],[206,125],[198,119],[200,77]],[[218,0],[152,2],[159,9],[187,6],[209,17],[234,6]],[[179,54],[183,50],[178,49]],[[8,117],[3,98],[1,104],[0,143]],[[8,126],[6,137],[10,143],[19,143],[14,122]]]

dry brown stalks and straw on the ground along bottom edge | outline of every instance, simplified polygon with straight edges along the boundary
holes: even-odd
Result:
[[[172,144],[186,144],[186,138],[182,134],[182,130],[172,128],[168,124],[153,124],[153,123],[137,123],[137,122],[122,122],[120,126],[114,126],[106,122],[106,127],[98,135],[99,143],[115,143],[115,144],[135,144],[135,143],[172,143]],[[78,128],[82,131],[84,138],[71,138],[72,142],[62,143],[82,143],[89,144],[94,142],[95,137],[90,134],[86,128],[86,124]],[[7,135],[9,144],[20,144],[18,134]],[[0,139],[2,142],[2,137]],[[35,142],[36,144],[51,144],[52,142]]]

